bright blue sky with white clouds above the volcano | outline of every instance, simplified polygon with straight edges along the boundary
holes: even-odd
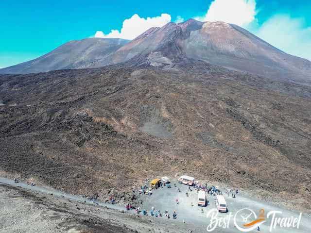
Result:
[[[96,32],[131,39],[149,26],[188,18],[240,24],[277,48],[311,60],[310,13],[310,0],[1,0],[0,67]]]

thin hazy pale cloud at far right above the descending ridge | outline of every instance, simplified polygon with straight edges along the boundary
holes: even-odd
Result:
[[[253,33],[280,50],[311,60],[311,27],[302,18],[275,15]]]

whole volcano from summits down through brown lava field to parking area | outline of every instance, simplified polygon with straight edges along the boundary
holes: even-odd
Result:
[[[0,75],[0,175],[127,201],[189,174],[310,211],[310,64],[224,22],[71,41],[0,70],[61,69]]]

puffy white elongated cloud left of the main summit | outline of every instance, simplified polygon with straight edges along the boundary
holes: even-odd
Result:
[[[169,14],[161,14],[161,16],[141,18],[137,14],[125,19],[121,31],[111,30],[110,33],[104,34],[101,31],[97,31],[94,37],[100,38],[122,38],[132,40],[141,33],[147,31],[152,27],[162,27],[171,21]]]

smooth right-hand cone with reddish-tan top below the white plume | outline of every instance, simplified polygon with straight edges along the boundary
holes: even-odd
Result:
[[[190,58],[265,77],[311,81],[310,61],[278,50],[234,24],[205,23],[190,33],[183,51]]]

